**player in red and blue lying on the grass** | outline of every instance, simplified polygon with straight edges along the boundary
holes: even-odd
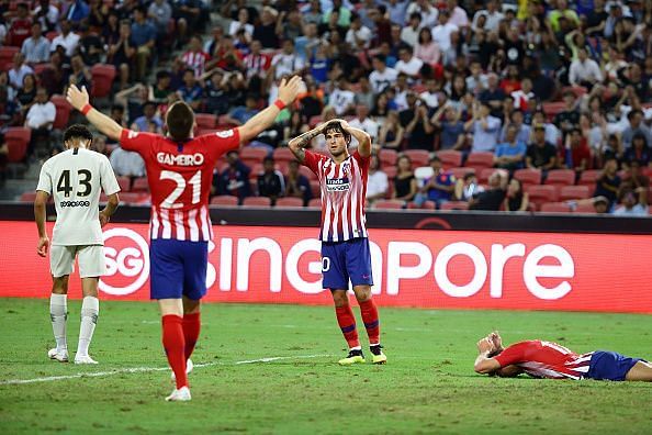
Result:
[[[506,348],[498,333],[477,342],[475,371],[513,378],[520,373],[547,379],[595,379],[652,382],[652,365],[615,352],[595,350],[578,355],[557,343],[529,339]]]

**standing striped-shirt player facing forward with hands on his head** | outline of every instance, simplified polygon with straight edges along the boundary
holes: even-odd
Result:
[[[326,136],[330,158],[304,149],[319,134]],[[349,154],[351,137],[358,142],[358,149]],[[364,214],[371,137],[336,119],[293,138],[289,147],[301,164],[315,172],[322,188],[323,287],[330,290],[337,323],[349,346],[348,356],[339,364],[364,362],[347,294],[349,281],[360,305],[372,361],[384,364],[387,357],[380,344],[378,309],[371,298],[373,277]]]

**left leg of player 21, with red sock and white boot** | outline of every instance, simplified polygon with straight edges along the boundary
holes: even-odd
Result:
[[[167,401],[190,400],[188,375],[186,375],[186,338],[183,336],[183,302],[181,299],[159,299],[162,323],[162,345],[168,362],[175,372],[177,388]]]

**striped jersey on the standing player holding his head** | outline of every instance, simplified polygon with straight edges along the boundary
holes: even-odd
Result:
[[[364,202],[369,160],[357,150],[340,164],[324,155],[305,152],[303,165],[315,172],[322,188],[319,239],[323,242],[368,236]]]

